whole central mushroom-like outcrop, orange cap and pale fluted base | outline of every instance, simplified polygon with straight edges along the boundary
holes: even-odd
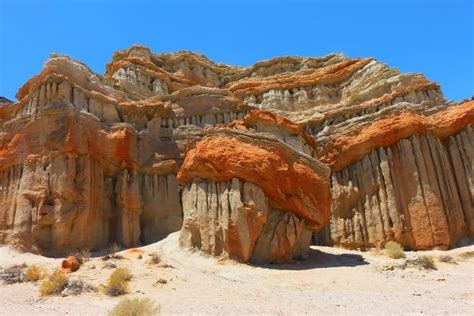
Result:
[[[212,255],[291,261],[329,220],[329,168],[265,134],[210,131],[187,151],[178,181],[180,242]]]

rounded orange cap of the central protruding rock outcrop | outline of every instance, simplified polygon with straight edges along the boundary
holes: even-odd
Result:
[[[238,178],[258,185],[270,205],[321,228],[329,220],[329,170],[275,141],[218,130],[187,151],[178,181],[228,181]],[[316,185],[315,185],[316,184]]]

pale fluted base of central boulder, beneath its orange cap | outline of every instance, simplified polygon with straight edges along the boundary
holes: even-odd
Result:
[[[289,262],[309,251],[312,233],[306,221],[271,208],[251,182],[186,184],[183,210],[180,243],[187,248],[254,263]]]

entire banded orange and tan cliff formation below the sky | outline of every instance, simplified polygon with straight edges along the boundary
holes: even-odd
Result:
[[[155,242],[241,261],[311,241],[448,248],[474,235],[474,101],[371,58],[216,64],[63,55],[0,98],[0,243],[45,254]],[[311,237],[313,236],[313,237]]]

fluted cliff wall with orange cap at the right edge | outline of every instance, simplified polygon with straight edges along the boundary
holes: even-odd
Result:
[[[431,116],[388,116],[327,141],[333,210],[319,242],[427,249],[472,236],[473,120],[470,101]]]

